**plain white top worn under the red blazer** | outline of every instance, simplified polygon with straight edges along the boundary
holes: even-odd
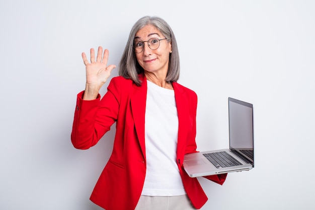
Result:
[[[147,81],[145,108],[146,175],[142,195],[186,194],[176,164],[178,115],[173,90]]]

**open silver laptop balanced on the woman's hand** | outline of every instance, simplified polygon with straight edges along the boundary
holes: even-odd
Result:
[[[253,104],[228,98],[229,149],[187,154],[184,169],[200,177],[254,168]]]

